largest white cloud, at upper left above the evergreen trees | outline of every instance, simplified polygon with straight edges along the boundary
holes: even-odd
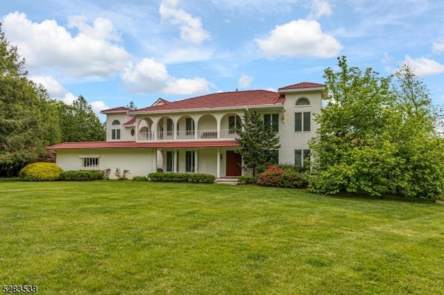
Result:
[[[130,55],[115,43],[120,37],[107,19],[96,19],[90,26],[85,17],[69,17],[69,28],[76,28],[77,35],[71,35],[54,20],[33,23],[19,12],[3,17],[8,40],[18,46],[28,67],[56,67],[67,75],[83,78],[109,77],[128,64]]]

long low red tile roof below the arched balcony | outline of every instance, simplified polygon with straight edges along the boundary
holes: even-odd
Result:
[[[228,141],[84,141],[78,143],[59,143],[45,147],[46,150],[110,149],[110,148],[194,148],[194,147],[239,147],[236,140]]]

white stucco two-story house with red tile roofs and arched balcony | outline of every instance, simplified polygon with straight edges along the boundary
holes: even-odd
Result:
[[[157,170],[200,172],[221,177],[243,175],[233,128],[246,109],[278,130],[280,163],[303,165],[308,141],[316,134],[325,85],[311,82],[266,90],[212,93],[151,107],[117,107],[106,114],[106,141],[60,143],[56,163],[63,170],[129,170],[130,177]]]

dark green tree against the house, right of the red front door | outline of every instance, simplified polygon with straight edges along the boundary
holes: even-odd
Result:
[[[251,169],[253,176],[260,166],[275,159],[280,148],[278,132],[270,125],[265,125],[260,114],[245,111],[241,124],[236,127],[241,144],[239,154],[244,161],[244,168]]]

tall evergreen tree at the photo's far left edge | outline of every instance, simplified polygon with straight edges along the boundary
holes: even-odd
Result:
[[[0,24],[0,169],[7,177],[42,151],[40,101],[24,65]]]

